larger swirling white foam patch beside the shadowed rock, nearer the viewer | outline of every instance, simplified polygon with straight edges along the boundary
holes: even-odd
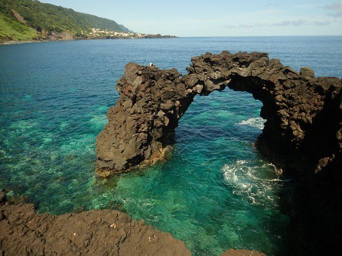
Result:
[[[272,164],[238,160],[222,167],[224,180],[234,195],[247,199],[252,204],[274,207],[276,190],[283,180]]]

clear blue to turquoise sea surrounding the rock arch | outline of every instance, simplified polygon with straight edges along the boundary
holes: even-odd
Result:
[[[196,96],[167,162],[94,175],[94,143],[134,61],[185,73],[205,52],[266,51],[295,69],[342,76],[342,37],[211,37],[0,46],[0,187],[39,212],[114,208],[182,239],[195,255],[228,248],[283,254],[292,181],[253,149],[264,120],[250,94]]]

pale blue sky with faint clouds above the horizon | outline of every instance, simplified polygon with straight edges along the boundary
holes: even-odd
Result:
[[[342,0],[41,0],[177,36],[342,35]]]

